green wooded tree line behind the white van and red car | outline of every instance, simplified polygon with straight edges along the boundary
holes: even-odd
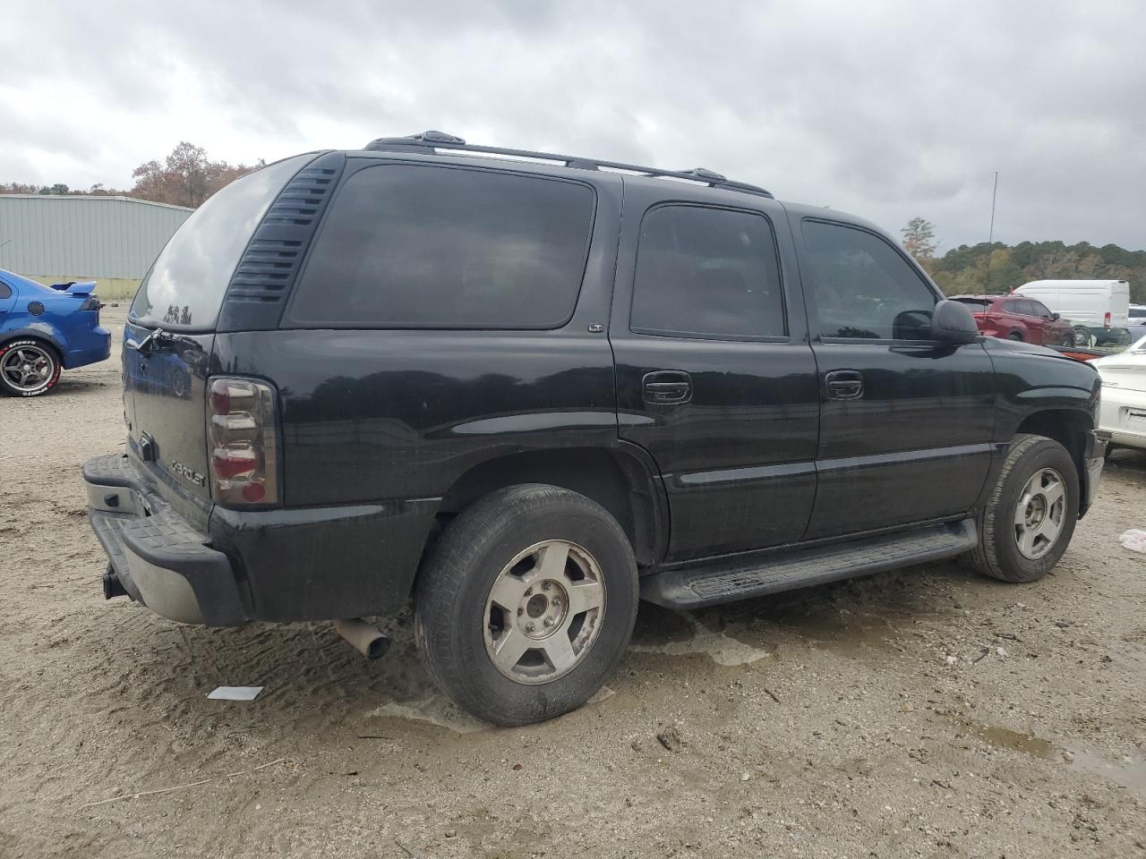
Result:
[[[1089,242],[980,242],[935,254],[935,227],[912,218],[901,230],[904,249],[948,295],[1006,293],[1029,281],[1127,281],[1130,300],[1146,304],[1146,251]]]

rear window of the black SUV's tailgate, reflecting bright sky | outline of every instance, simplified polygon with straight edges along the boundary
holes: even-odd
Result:
[[[214,325],[251,235],[278,191],[313,157],[296,156],[241,176],[196,208],[143,278],[131,317],[173,329]]]

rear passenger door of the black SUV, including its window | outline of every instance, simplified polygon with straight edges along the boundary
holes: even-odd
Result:
[[[657,184],[626,186],[610,340],[620,435],[665,481],[668,560],[795,542],[819,405],[784,210]]]

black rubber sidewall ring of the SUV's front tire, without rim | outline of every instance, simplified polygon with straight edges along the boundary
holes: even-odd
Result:
[[[1019,551],[1014,538],[1014,510],[1019,496],[1031,475],[1042,468],[1054,468],[1062,475],[1067,488],[1066,506],[1062,511],[1062,530],[1051,550],[1042,558],[1030,559]],[[1007,475],[998,504],[991,511],[994,525],[994,550],[996,560],[1017,581],[1033,582],[1046,575],[1066,552],[1074,536],[1078,520],[1078,473],[1066,449],[1055,441],[1044,439],[1027,449]]]

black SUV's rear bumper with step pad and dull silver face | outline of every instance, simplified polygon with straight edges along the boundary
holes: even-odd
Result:
[[[227,555],[149,491],[126,456],[89,459],[84,482],[92,529],[129,597],[182,623],[234,626],[251,620]]]

